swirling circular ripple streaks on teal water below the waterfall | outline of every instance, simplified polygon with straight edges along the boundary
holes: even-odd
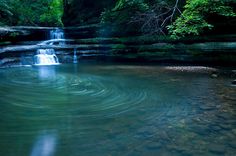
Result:
[[[0,91],[5,96],[4,102],[34,109],[52,109],[55,105],[60,106],[60,103],[70,103],[74,108],[61,109],[86,109],[91,113],[107,111],[107,115],[114,115],[132,110],[147,97],[145,90],[130,90],[119,79],[110,80],[109,77],[93,74],[61,73],[42,78],[40,72],[27,68],[4,73],[5,81],[1,85],[11,92],[4,94],[4,90]]]

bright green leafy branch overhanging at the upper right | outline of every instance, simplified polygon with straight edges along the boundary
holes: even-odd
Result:
[[[229,2],[229,0],[227,1]],[[170,26],[172,38],[186,35],[199,35],[205,29],[212,29],[207,17],[211,14],[232,17],[236,16],[233,8],[225,0],[188,0],[183,14]]]

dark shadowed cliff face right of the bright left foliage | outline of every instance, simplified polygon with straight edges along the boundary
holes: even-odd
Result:
[[[100,22],[104,8],[114,7],[116,0],[65,0],[63,22],[65,26]]]

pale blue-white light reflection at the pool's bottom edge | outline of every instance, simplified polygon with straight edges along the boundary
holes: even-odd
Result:
[[[43,132],[36,139],[30,156],[53,156],[57,144],[55,133]]]

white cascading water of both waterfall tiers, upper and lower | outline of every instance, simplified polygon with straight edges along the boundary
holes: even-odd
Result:
[[[50,31],[50,40],[64,39],[64,32],[61,29]],[[64,42],[60,45],[65,45]],[[60,64],[54,49],[38,49],[37,54],[34,56],[35,65],[58,65]]]

